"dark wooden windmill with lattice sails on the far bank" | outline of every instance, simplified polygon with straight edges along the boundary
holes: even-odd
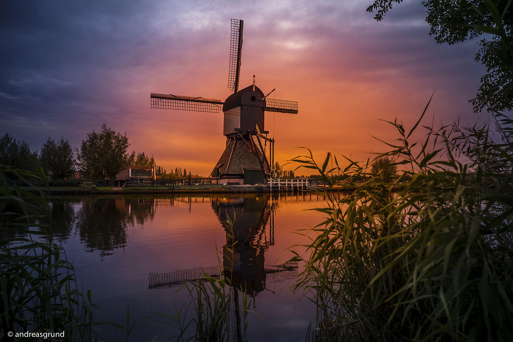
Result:
[[[223,134],[226,147],[210,176],[219,177],[229,185],[265,183],[276,174],[274,139],[264,127],[264,112],[298,113],[298,102],[268,99],[253,84],[239,90],[242,32],[244,22],[231,20],[230,66],[228,88],[232,94],[223,102],[218,99],[151,93],[151,108],[224,113]],[[269,147],[266,150],[267,143]],[[268,175],[266,177],[266,174]]]

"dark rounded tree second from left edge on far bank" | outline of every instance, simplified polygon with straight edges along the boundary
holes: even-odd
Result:
[[[61,138],[58,143],[52,138],[41,146],[39,162],[52,179],[64,179],[73,172],[75,156],[69,140]]]

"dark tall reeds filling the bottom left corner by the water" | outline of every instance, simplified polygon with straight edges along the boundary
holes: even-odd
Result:
[[[78,290],[73,265],[53,242],[50,207],[33,185],[48,183],[36,167],[35,173],[0,168],[0,339],[18,340],[7,339],[8,332],[64,332],[64,338],[48,340],[94,340],[91,293]]]

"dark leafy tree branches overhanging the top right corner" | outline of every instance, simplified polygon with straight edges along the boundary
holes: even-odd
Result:
[[[394,3],[403,0],[374,0],[368,12],[377,11],[374,18],[383,20]],[[476,61],[486,66],[486,74],[481,77],[481,86],[476,98],[470,100],[474,111],[487,108],[498,112],[513,109],[513,6],[509,0],[425,0],[426,22],[431,26],[429,35],[435,36],[437,43],[455,44],[479,37],[483,32],[491,33],[491,38],[483,38],[479,43]]]

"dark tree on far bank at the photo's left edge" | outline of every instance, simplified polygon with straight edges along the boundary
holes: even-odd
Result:
[[[0,138],[0,165],[31,171],[34,163],[30,158],[37,158],[37,150],[31,152],[25,140],[16,140],[9,133]]]

